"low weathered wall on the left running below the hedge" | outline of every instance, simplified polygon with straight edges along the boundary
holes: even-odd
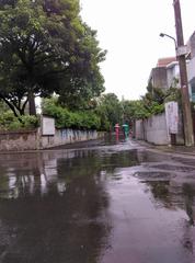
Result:
[[[56,129],[54,136],[43,136],[42,130],[0,132],[0,151],[39,150],[97,139],[103,133],[96,130]]]

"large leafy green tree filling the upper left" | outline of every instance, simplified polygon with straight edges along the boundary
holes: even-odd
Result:
[[[96,33],[82,22],[78,0],[0,1],[0,99],[15,115],[35,96],[90,100],[104,90]]]

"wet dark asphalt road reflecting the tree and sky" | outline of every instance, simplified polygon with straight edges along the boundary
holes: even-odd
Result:
[[[0,155],[0,263],[193,263],[194,220],[195,159],[133,141]]]

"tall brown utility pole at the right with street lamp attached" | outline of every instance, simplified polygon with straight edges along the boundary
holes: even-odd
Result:
[[[180,83],[182,92],[182,110],[183,110],[183,126],[184,126],[184,137],[185,146],[194,146],[194,132],[193,132],[193,121],[191,102],[188,95],[188,80],[187,80],[187,69],[185,61],[185,46],[183,38],[183,27],[182,27],[182,15],[180,0],[173,0],[174,16],[175,16],[175,28],[176,28],[176,41],[177,41],[177,60],[180,67]]]

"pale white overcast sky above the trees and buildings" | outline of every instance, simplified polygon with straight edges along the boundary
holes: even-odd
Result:
[[[150,70],[158,58],[174,56],[175,37],[172,0],[80,0],[81,16],[93,30],[106,60],[101,70],[106,92],[118,99],[139,99],[145,94]],[[195,2],[181,0],[185,42],[195,31]]]

